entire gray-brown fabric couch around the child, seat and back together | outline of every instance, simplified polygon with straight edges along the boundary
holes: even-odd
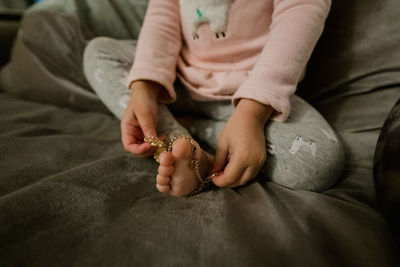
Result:
[[[157,192],[157,165],[123,151],[119,122],[79,75],[87,39],[136,36],[98,24],[144,1],[61,2],[29,11],[0,73],[0,266],[400,265],[372,178],[379,130],[400,96],[397,0],[334,1],[299,89],[345,144],[334,188],[258,177],[185,200]]]

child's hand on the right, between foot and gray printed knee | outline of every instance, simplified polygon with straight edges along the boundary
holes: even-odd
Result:
[[[221,132],[212,172],[219,187],[246,184],[260,171],[266,159],[264,126],[273,109],[250,99],[241,99]]]

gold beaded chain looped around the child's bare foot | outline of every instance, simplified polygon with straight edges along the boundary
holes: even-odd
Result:
[[[201,191],[203,191],[205,188],[207,188],[211,184],[211,179],[216,175],[215,173],[213,173],[204,179],[201,177],[199,161],[198,161],[197,155],[196,155],[196,146],[193,143],[193,139],[190,136],[177,135],[177,136],[173,137],[168,143],[157,137],[145,137],[144,141],[146,143],[148,143],[150,146],[152,146],[153,148],[155,148],[154,159],[158,163],[160,163],[160,161],[159,161],[160,154],[162,152],[171,152],[172,145],[174,144],[174,142],[176,140],[178,140],[180,138],[184,138],[184,139],[188,140],[190,143],[190,146],[192,149],[192,160],[190,162],[190,167],[194,170],[195,175],[200,182],[192,192],[190,192],[189,194],[182,197],[182,198],[186,198],[186,197],[194,196],[194,195],[200,193]],[[203,152],[203,155],[205,155],[207,157],[207,159],[211,161],[211,159],[208,157],[207,154],[205,154]]]

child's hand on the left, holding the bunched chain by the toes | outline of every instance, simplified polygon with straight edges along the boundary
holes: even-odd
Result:
[[[121,119],[121,139],[125,150],[149,156],[152,148],[144,137],[157,137],[158,95],[163,90],[158,83],[136,81],[131,85],[131,97]]]

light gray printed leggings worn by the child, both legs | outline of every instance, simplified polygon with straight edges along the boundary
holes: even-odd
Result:
[[[127,75],[135,57],[135,48],[136,41],[98,37],[85,49],[86,78],[118,118],[121,118],[130,97]],[[196,114],[201,119],[194,121],[190,133],[216,149],[219,133],[234,109],[230,101],[195,101],[179,81],[175,89],[177,101],[168,107],[159,107],[158,132],[168,136],[188,134],[169,110],[181,115]],[[269,121],[265,127],[268,155],[261,172],[288,188],[326,190],[334,185],[344,166],[340,141],[325,119],[303,99],[293,96],[291,105],[286,122]]]

